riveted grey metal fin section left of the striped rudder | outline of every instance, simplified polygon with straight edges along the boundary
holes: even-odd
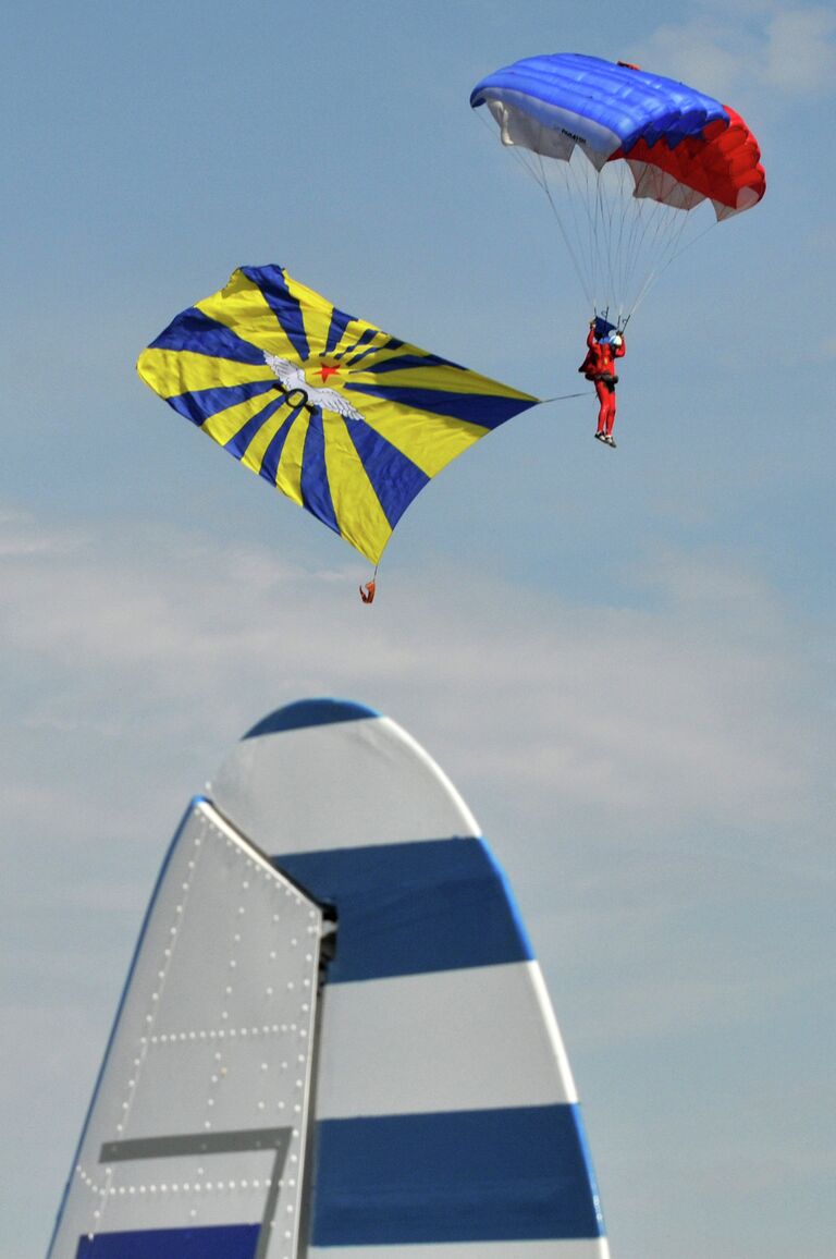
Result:
[[[322,914],[206,801],[151,899],[49,1259],[297,1251]]]

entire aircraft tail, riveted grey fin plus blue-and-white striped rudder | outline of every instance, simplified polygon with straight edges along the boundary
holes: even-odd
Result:
[[[251,730],[175,837],[50,1250],[302,1255],[608,1259],[504,876],[423,749],[334,700]]]

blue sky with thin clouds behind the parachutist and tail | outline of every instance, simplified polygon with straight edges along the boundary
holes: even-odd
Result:
[[[575,392],[583,295],[467,103],[556,50],[726,99],[767,196],[636,316],[618,451],[592,398],[506,424],[365,608],[365,563],[136,356],[274,262]],[[33,0],[3,58],[0,1250],[45,1250],[188,798],[266,711],[345,695],[424,744],[511,876],[616,1259],[831,1259],[832,10]]]

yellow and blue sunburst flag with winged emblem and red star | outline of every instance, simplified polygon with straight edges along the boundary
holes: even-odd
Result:
[[[276,266],[233,272],[137,370],[375,564],[427,482],[538,402],[346,315]]]

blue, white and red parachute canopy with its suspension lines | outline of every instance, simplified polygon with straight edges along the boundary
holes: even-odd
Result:
[[[680,252],[687,212],[709,201],[719,222],[765,190],[758,142],[734,110],[622,62],[526,58],[477,83],[471,104],[487,104],[544,186],[593,305],[621,319]]]

